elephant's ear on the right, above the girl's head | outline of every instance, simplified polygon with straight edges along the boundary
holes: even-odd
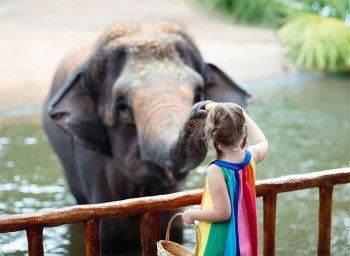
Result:
[[[206,66],[205,83],[204,94],[207,100],[234,102],[245,108],[251,99],[251,95],[246,90],[210,63]]]

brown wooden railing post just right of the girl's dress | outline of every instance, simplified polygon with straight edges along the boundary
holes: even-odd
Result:
[[[277,194],[274,193],[264,195],[263,197],[264,256],[275,255],[276,201]]]

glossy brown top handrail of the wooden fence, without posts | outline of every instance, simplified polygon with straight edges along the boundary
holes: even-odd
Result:
[[[256,182],[257,197],[269,193],[282,193],[305,188],[321,187],[326,184],[350,183],[350,168],[284,176]],[[58,210],[34,214],[13,214],[0,217],[0,233],[14,232],[39,225],[53,227],[72,224],[89,219],[124,217],[145,212],[174,210],[200,204],[202,189],[178,192],[160,196],[127,199],[103,204],[76,205]]]

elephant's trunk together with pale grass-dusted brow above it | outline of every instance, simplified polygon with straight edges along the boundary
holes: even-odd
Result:
[[[202,105],[192,107],[202,78],[170,64],[143,78],[132,95],[141,158],[164,170],[169,181],[173,176],[180,180],[207,152],[202,129],[206,111]]]

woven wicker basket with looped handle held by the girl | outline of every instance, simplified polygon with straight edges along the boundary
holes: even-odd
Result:
[[[173,224],[173,221],[176,217],[181,216],[182,213],[176,213],[174,214],[171,219],[169,220],[166,233],[165,233],[165,240],[160,240],[157,242],[157,255],[158,256],[194,256],[196,255],[194,252],[190,251],[186,247],[169,241],[169,234],[170,234],[170,228]],[[194,226],[194,225],[193,225]],[[195,231],[196,227],[194,226]],[[197,231],[196,231],[197,236]]]

